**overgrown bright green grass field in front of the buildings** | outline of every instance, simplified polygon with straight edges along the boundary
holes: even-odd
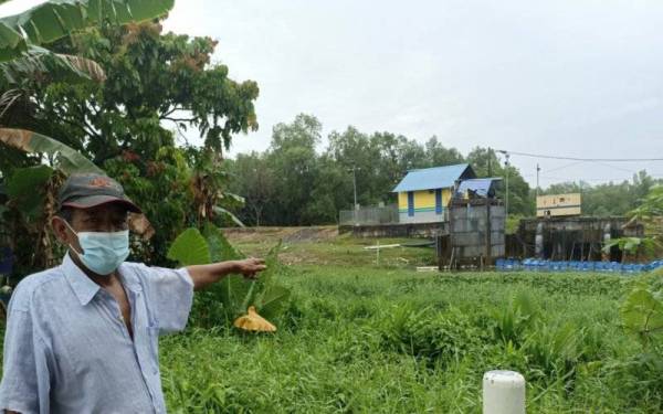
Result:
[[[282,282],[294,297],[276,335],[191,327],[164,338],[170,411],[478,413],[492,369],[525,375],[530,413],[663,410],[661,361],[620,327],[633,279],[421,274],[412,266],[430,251],[397,248],[376,264],[368,243],[290,244]],[[270,242],[239,244],[260,254]]]

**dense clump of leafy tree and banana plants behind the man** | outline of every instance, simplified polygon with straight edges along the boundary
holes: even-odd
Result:
[[[222,153],[257,128],[259,88],[212,63],[212,39],[162,33],[155,19],[172,3],[64,0],[0,19],[3,33],[28,28],[0,40],[0,232],[14,280],[62,255],[48,223],[72,172],[105,171],[145,211],[135,259],[173,265],[168,245],[188,226],[239,222]],[[178,142],[187,128],[202,147]],[[27,193],[30,203],[15,197]]]

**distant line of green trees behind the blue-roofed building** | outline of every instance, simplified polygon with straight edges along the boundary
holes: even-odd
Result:
[[[273,128],[266,150],[225,160],[230,192],[245,199],[236,213],[246,225],[334,224],[340,210],[352,209],[354,176],[358,204],[393,204],[397,199],[391,190],[408,170],[462,162],[470,163],[478,177],[505,179],[508,169],[509,213],[535,214],[535,189],[518,168],[506,167],[488,148],[476,147],[463,155],[435,136],[421,144],[402,135],[367,134],[348,126],[332,131],[326,147],[318,150],[322,127],[315,116],[301,114]],[[539,194],[580,192],[583,214],[621,215],[660,182],[641,171],[631,181],[593,187],[582,181],[552,184],[539,189]],[[497,195],[506,195],[504,181]]]

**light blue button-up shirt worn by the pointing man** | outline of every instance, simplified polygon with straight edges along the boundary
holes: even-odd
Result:
[[[24,278],[9,304],[0,410],[28,413],[165,413],[159,333],[187,325],[186,269],[124,263],[134,339],[117,301],[69,255]]]

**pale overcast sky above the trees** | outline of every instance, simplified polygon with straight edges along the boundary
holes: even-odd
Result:
[[[21,3],[0,7],[0,13]],[[167,30],[219,40],[214,56],[261,93],[257,132],[315,115],[466,153],[475,146],[593,158],[663,158],[663,2],[177,0]],[[512,158],[534,183],[663,178],[663,162]]]

